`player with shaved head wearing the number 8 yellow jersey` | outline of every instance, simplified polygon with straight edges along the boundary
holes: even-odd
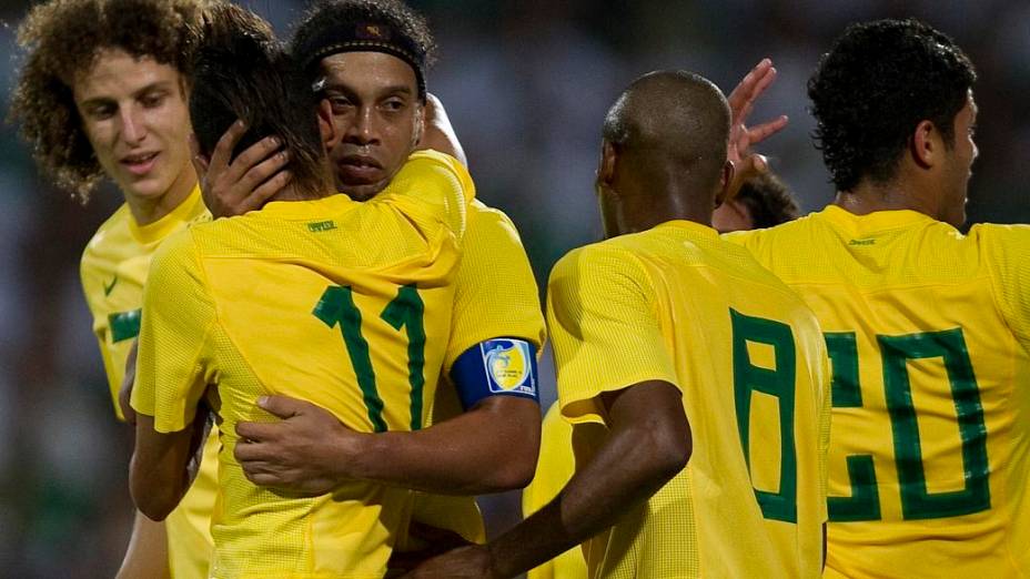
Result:
[[[726,99],[693,73],[647,74],[612,108],[608,238],[548,284],[576,474],[495,541],[414,577],[511,577],[587,539],[590,577],[819,576],[825,344],[801,299],[707,225],[728,134]]]

